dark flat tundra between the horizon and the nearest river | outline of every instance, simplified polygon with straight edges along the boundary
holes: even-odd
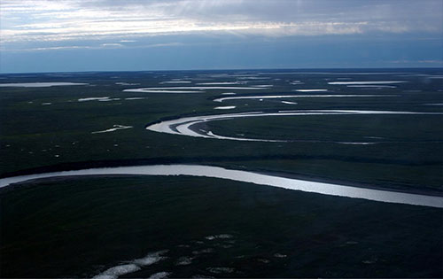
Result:
[[[433,72],[432,72],[433,71]],[[439,70],[422,70],[438,74]],[[435,73],[434,73],[435,72]],[[224,73],[224,72],[223,72]],[[227,72],[235,74],[235,72]],[[254,72],[252,72],[254,73]],[[256,73],[256,72],[255,72]],[[208,72],[92,73],[29,77],[6,75],[4,81],[73,81],[93,86],[51,88],[0,88],[0,175],[35,173],[89,166],[153,163],[206,163],[225,167],[283,171],[319,178],[376,184],[385,188],[442,190],[443,129],[441,115],[360,115],[261,117],[208,123],[215,134],[258,138],[324,141],[320,143],[242,143],[144,130],[148,123],[181,115],[214,114],[217,105],[237,105],[229,112],[293,109],[393,110],[443,112],[441,83],[424,76],[286,74],[272,80],[249,81],[247,86],[273,84],[260,90],[238,90],[238,96],[302,94],[294,89],[330,89],[329,94],[376,94],[397,97],[297,98],[298,105],[281,100],[236,100],[214,103],[232,90],[207,90],[202,94],[147,94],[122,92],[140,87],[189,86],[207,81],[237,81],[235,77],[211,77]],[[218,73],[220,74],[220,73]],[[351,76],[356,81],[408,81],[395,89],[359,89],[330,85]],[[192,78],[193,84],[161,84],[175,78]],[[302,85],[289,81],[300,80]],[[2,81],[2,82],[4,82]],[[139,83],[118,85],[116,82]],[[240,85],[241,86],[241,85]],[[420,90],[420,91],[415,91]],[[318,93],[313,93],[318,94]],[[120,98],[110,102],[78,102],[84,97]],[[126,97],[146,97],[125,100]],[[51,103],[51,105],[42,105]],[[225,104],[226,103],[226,104]],[[223,113],[223,112],[221,112]],[[91,134],[132,126],[113,133]],[[272,131],[272,132],[269,132]],[[367,136],[383,137],[383,139]],[[345,145],[332,142],[374,142]]]

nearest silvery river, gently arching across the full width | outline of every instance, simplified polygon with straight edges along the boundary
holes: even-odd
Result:
[[[364,189],[359,187],[338,185],[324,182],[309,182],[299,179],[280,177],[270,174],[257,174],[253,172],[226,169],[212,166],[196,165],[154,165],[137,167],[105,167],[73,170],[66,172],[54,172],[46,174],[30,174],[0,179],[0,187],[17,182],[27,182],[34,179],[63,177],[72,175],[110,175],[110,174],[133,174],[133,175],[190,175],[233,180],[237,182],[251,182],[259,185],[268,185],[288,190],[301,190],[323,195],[364,198],[378,202],[423,205],[443,208],[443,198],[394,192],[389,190]]]

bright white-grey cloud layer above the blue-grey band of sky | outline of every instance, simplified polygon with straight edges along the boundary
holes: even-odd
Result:
[[[136,40],[153,35],[441,34],[440,1],[3,0],[9,43]],[[130,39],[130,40],[129,40]],[[109,46],[109,45],[108,45]]]

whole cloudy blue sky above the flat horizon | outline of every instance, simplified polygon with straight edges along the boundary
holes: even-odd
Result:
[[[442,66],[441,0],[0,1],[0,73]]]

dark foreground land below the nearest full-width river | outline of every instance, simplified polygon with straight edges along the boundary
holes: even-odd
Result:
[[[443,275],[441,209],[184,176],[34,182],[0,198],[2,277],[90,277],[164,249],[127,276]]]

